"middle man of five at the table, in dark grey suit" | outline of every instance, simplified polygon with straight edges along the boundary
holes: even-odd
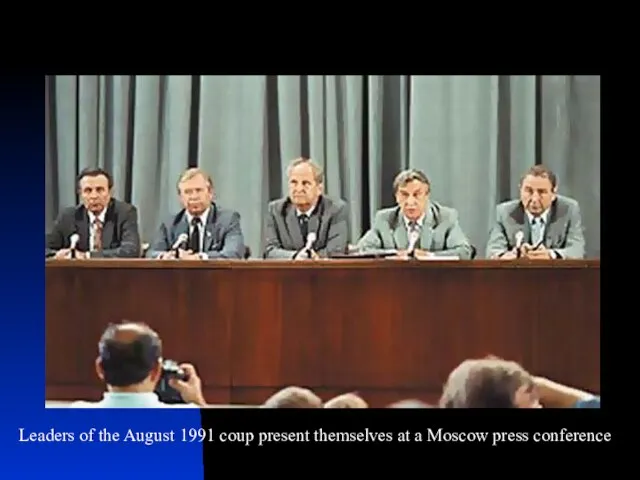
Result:
[[[269,203],[264,258],[304,260],[346,253],[348,206],[323,195],[322,168],[313,160],[298,158],[287,177],[289,196]],[[309,240],[311,248],[306,249]]]

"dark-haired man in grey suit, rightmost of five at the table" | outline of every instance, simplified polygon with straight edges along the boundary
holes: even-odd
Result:
[[[532,167],[522,178],[520,199],[497,206],[487,257],[584,258],[580,206],[557,191],[557,178],[551,170],[542,165]]]

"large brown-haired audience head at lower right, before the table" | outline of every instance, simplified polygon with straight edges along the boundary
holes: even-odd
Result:
[[[442,408],[541,408],[534,378],[516,362],[465,360],[444,386]]]

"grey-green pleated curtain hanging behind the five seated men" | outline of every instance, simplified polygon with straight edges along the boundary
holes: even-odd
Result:
[[[149,241],[179,208],[179,174],[198,165],[256,256],[287,164],[310,156],[327,193],[349,202],[353,242],[411,166],[483,255],[495,205],[545,163],[582,206],[589,257],[600,255],[598,76],[55,76],[45,123],[46,228],[78,201],[79,170],[101,166]]]

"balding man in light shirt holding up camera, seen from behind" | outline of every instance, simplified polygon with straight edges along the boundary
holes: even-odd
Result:
[[[103,333],[98,351],[96,372],[107,384],[107,391],[99,402],[77,401],[70,408],[206,406],[200,378],[193,365],[182,364],[176,371],[165,371],[162,341],[148,326],[139,323],[111,325]],[[186,405],[161,401],[156,387],[163,375],[165,378],[170,376],[167,383],[180,394]],[[180,377],[182,380],[178,379]]]

